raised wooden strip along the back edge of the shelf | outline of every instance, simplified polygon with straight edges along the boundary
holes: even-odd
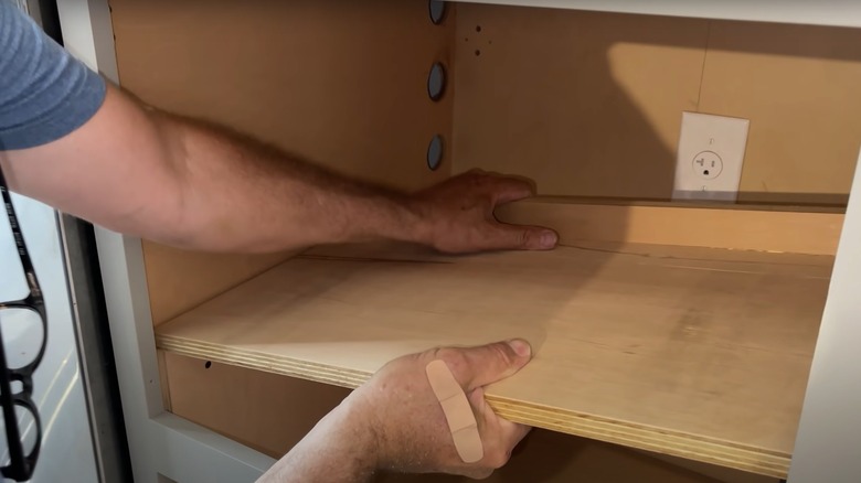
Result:
[[[672,245],[833,256],[843,214],[659,204],[576,203],[533,198],[500,206],[503,223],[559,232],[562,245],[578,242]]]

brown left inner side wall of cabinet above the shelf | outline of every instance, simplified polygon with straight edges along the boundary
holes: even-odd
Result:
[[[149,104],[385,184],[425,186],[450,171],[426,167],[431,138],[450,139],[453,101],[432,103],[426,79],[451,57],[455,19],[432,24],[425,0],[110,6],[120,82]],[[285,258],[145,251],[156,323]]]

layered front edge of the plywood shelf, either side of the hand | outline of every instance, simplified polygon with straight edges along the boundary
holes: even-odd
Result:
[[[179,355],[203,358],[240,367],[297,377],[347,388],[357,388],[372,374],[247,350],[193,341],[166,334],[157,335],[159,348]],[[591,438],[615,444],[703,461],[768,476],[786,477],[790,455],[702,436],[668,431],[594,415],[545,408],[538,405],[487,395],[501,417],[535,428]]]

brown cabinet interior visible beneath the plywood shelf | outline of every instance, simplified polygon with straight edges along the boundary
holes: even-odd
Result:
[[[273,458],[290,450],[349,390],[217,362],[166,354],[173,411]],[[775,483],[741,472],[546,430],[534,430],[490,483]],[[752,480],[753,477],[753,480]],[[379,483],[467,483],[467,477],[384,474]]]

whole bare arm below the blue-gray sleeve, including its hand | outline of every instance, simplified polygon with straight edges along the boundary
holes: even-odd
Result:
[[[500,224],[528,183],[465,173],[421,193],[373,186],[254,140],[148,109],[108,88],[83,127],[0,152],[10,187],[116,232],[210,251],[276,251],[376,238],[443,251],[550,249],[556,234]]]

